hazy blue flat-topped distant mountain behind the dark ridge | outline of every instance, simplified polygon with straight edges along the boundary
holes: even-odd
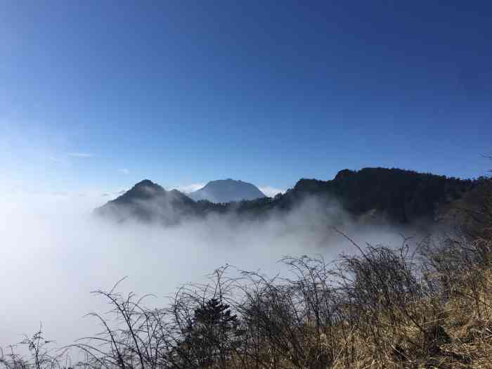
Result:
[[[233,202],[265,197],[264,193],[254,184],[231,178],[209,181],[189,196],[193,200],[209,200],[210,202]]]

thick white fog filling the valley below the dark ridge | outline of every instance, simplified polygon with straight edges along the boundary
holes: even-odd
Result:
[[[91,216],[101,195],[17,193],[1,200],[0,347],[19,342],[42,322],[59,345],[98,332],[90,311],[107,304],[90,294],[124,276],[123,292],[153,293],[164,304],[183,283],[200,282],[215,268],[282,273],[285,255],[326,259],[356,250],[330,224],[342,224],[356,242],[401,245],[401,228],[352,224],[336,202],[311,198],[287,216],[239,221],[211,216],[170,228],[110,224]]]

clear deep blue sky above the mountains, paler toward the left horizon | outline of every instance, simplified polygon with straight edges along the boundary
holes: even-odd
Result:
[[[490,1],[77,2],[2,2],[0,181],[489,167]]]

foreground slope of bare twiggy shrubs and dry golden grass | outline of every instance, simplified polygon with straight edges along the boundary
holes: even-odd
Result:
[[[162,309],[117,285],[91,314],[103,332],[32,356],[4,351],[5,369],[492,368],[492,198],[479,226],[416,249],[366,245],[327,263],[286,258],[290,278],[219,268],[183,286]],[[347,237],[347,236],[346,236]],[[348,238],[348,237],[347,237]],[[77,360],[68,358],[77,353]],[[82,356],[80,354],[83,354]],[[81,359],[79,359],[81,358]]]

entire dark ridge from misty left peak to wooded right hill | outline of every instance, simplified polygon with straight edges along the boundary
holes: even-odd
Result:
[[[318,200],[336,200],[354,217],[365,216],[370,221],[380,223],[409,224],[437,219],[439,211],[443,212],[440,209],[451,211],[452,204],[479,182],[403,169],[344,169],[329,181],[301,179],[294,188],[275,198],[224,203],[208,200],[195,202],[177,190],[166,191],[156,183],[145,180],[96,209],[96,214],[117,221],[157,220],[163,224],[176,224],[185,218],[211,213],[235,213],[258,218],[271,212],[289,212],[306,198],[316,196]],[[442,214],[439,216],[442,217]]]

